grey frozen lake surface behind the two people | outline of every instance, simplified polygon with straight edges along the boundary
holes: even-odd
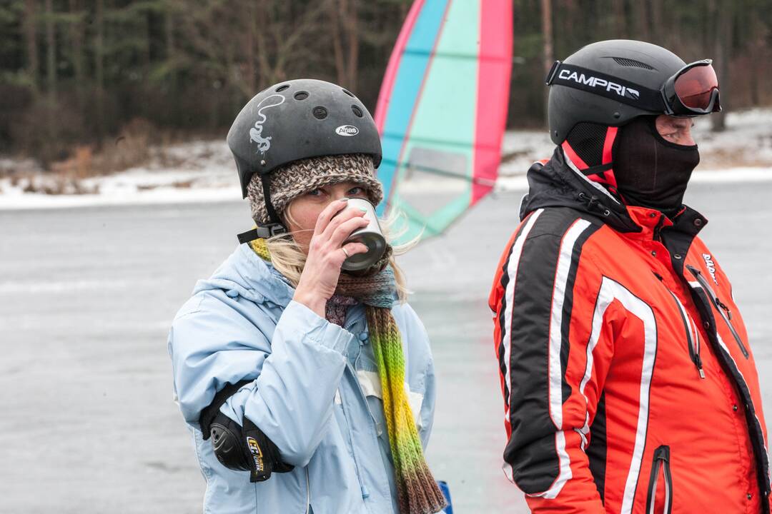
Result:
[[[709,218],[703,238],[733,281],[767,413],[770,188],[698,181],[686,195]],[[486,304],[522,194],[482,200],[401,257],[438,377],[427,458],[457,512],[528,512],[501,471]],[[167,331],[251,223],[245,202],[0,212],[0,512],[201,512],[205,481],[172,401]]]

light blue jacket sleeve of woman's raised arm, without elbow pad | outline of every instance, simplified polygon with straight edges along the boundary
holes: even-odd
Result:
[[[224,291],[199,293],[169,334],[182,414],[199,428],[201,410],[226,383],[253,380],[221,412],[239,425],[246,416],[284,462],[304,466],[332,415],[346,362],[342,351],[352,337],[294,301],[279,311]]]

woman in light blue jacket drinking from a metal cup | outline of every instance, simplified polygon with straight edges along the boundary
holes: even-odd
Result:
[[[435,378],[391,248],[344,240],[378,204],[378,132],[350,92],[260,92],[228,143],[257,227],[174,319],[174,391],[207,480],[205,512],[438,512],[423,446]]]

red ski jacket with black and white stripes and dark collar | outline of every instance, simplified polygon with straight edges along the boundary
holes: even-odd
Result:
[[[529,171],[493,282],[505,470],[533,512],[770,512],[732,288],[684,207],[625,207],[562,154]]]

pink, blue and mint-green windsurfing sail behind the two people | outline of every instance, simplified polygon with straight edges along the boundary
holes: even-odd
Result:
[[[442,233],[493,189],[511,68],[511,0],[415,0],[375,111],[378,211],[405,213],[401,239]]]

